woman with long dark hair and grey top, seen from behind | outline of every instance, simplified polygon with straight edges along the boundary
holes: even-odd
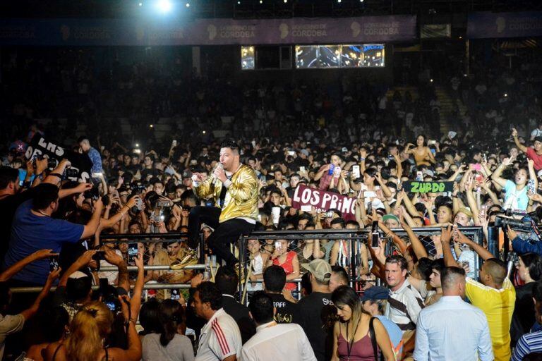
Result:
[[[176,300],[163,300],[159,306],[159,334],[143,337],[143,361],[176,360],[193,361],[194,352],[190,339],[184,336],[183,307]]]

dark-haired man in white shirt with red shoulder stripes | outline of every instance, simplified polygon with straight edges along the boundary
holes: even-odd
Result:
[[[195,314],[206,319],[195,361],[236,361],[241,356],[241,333],[222,308],[222,293],[212,282],[200,283],[193,295]]]

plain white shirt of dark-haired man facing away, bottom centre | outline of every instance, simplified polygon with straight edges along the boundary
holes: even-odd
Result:
[[[270,322],[256,328],[241,350],[241,361],[316,361],[311,343],[299,324]]]

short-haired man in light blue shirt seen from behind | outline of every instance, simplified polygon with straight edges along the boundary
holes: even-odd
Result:
[[[486,314],[462,299],[466,290],[464,269],[442,269],[440,281],[442,298],[418,316],[414,360],[493,361]]]

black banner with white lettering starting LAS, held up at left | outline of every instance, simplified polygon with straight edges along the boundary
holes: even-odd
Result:
[[[71,163],[70,169],[75,170],[77,173],[74,172],[73,176],[68,176],[66,179],[80,183],[86,183],[90,179],[92,161],[90,161],[87,154],[80,154],[68,150],[54,142],[45,140],[40,134],[34,135],[25,153],[26,159],[32,159],[36,156],[55,159],[56,164],[59,164],[62,159],[68,159]]]

